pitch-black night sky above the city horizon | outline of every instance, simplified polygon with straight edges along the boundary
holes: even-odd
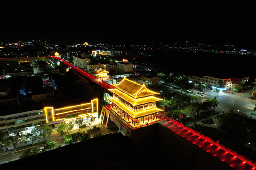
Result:
[[[252,4],[81,2],[6,2],[0,39],[256,44]]]

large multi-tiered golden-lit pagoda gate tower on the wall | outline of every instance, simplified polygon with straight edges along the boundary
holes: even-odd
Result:
[[[146,125],[157,119],[158,113],[164,111],[156,107],[156,102],[161,101],[155,95],[159,94],[146,88],[146,86],[133,82],[126,77],[116,85],[115,89],[109,89],[113,98],[109,98],[112,104],[110,109],[128,122],[132,127]]]

